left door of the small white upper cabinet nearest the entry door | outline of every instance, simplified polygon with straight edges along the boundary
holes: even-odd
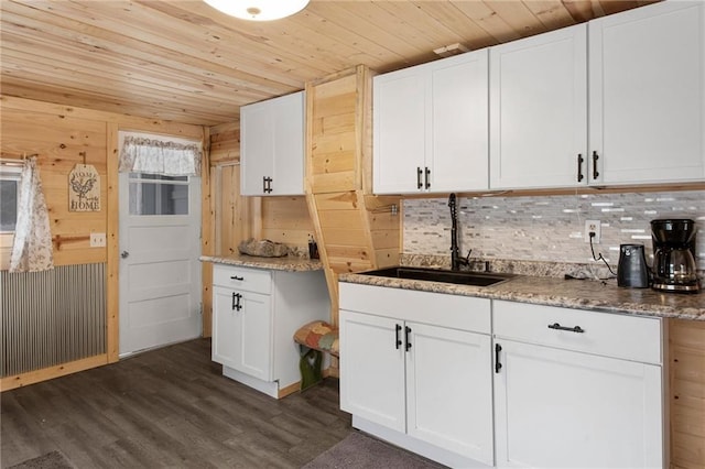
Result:
[[[240,172],[242,195],[264,195],[264,177],[272,177],[274,135],[268,101],[240,108]]]

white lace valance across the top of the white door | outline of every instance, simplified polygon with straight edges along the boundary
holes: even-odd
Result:
[[[166,176],[200,176],[203,152],[197,143],[178,143],[127,135],[118,171]]]

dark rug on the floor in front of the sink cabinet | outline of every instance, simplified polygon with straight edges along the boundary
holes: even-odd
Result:
[[[302,469],[438,469],[433,462],[405,449],[354,432]]]

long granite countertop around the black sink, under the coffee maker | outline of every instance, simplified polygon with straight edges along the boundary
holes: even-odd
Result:
[[[539,305],[705,320],[705,294],[660,293],[651,288],[625,288],[616,280],[563,280],[517,275],[491,286],[467,286],[440,282],[389,279],[355,273],[341,274],[340,282],[420,290]]]

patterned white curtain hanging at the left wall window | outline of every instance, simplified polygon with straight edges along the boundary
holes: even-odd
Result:
[[[36,168],[36,157],[24,161],[18,185],[18,221],[10,255],[10,272],[54,269],[48,211]]]

